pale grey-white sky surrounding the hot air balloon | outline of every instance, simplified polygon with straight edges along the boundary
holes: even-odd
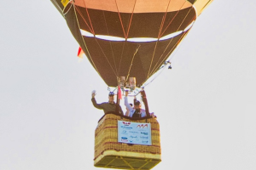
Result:
[[[254,0],[215,0],[145,90],[160,122],[154,170],[256,169]],[[0,169],[84,170],[108,86],[49,1],[0,6]],[[123,103],[123,101],[121,101]]]

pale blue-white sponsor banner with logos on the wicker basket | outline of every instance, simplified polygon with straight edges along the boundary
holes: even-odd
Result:
[[[150,123],[118,121],[118,142],[151,145]]]

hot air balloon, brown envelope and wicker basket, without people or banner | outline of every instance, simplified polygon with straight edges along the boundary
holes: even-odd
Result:
[[[168,58],[212,1],[51,0],[108,87],[131,90],[142,88],[163,65],[170,64]],[[154,167],[160,162],[158,122],[154,118],[135,121],[152,125],[151,145],[125,145],[117,142],[117,120],[123,119],[134,122],[116,115],[105,115],[100,120],[96,128],[95,166]]]

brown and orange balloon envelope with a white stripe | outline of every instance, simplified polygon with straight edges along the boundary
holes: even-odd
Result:
[[[211,0],[51,0],[91,65],[110,87],[143,85],[186,36]]]

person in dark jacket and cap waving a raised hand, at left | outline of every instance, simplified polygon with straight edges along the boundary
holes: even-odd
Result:
[[[97,109],[100,109],[100,110],[103,110],[104,113],[108,113],[108,112],[114,112],[114,113],[118,113],[120,115],[124,115],[123,111],[122,111],[122,108],[120,107],[120,105],[117,105],[116,103],[114,103],[113,101],[113,96],[114,96],[114,93],[113,92],[110,92],[108,94],[108,102],[104,102],[104,103],[101,103],[101,104],[97,104],[96,103],[96,99],[95,99],[95,96],[96,96],[96,92],[93,91],[92,94],[91,94],[91,102],[92,104],[97,108]],[[118,106],[118,109],[116,108]]]

